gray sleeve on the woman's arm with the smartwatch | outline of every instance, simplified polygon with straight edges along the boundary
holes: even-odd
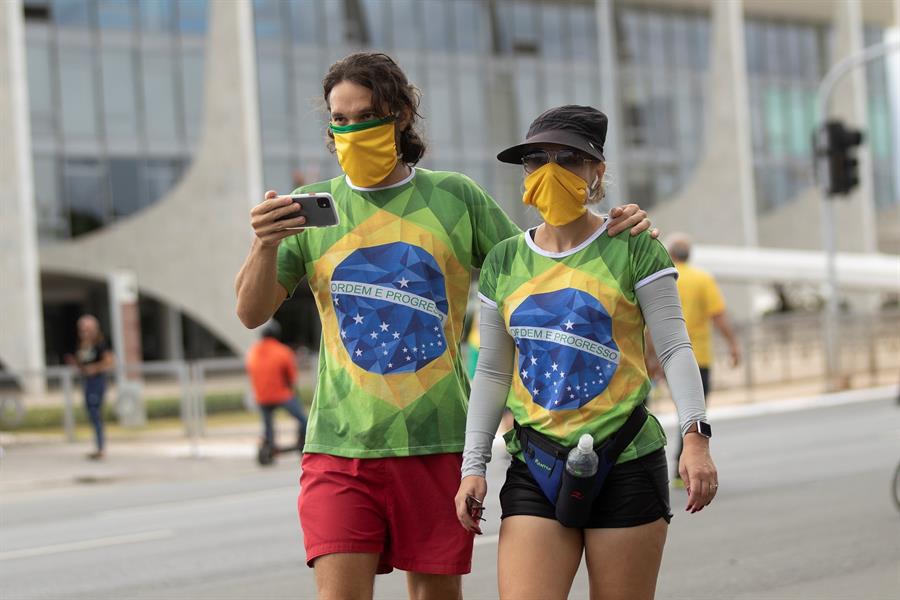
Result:
[[[659,363],[678,409],[681,435],[691,423],[706,420],[700,368],[684,326],[674,276],[660,277],[635,290]]]

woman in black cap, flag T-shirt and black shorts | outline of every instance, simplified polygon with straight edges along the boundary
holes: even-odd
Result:
[[[485,465],[504,405],[514,456],[500,491],[502,598],[565,598],[582,552],[591,597],[652,598],[671,518],[665,435],[644,400],[649,327],[678,407],[686,510],[716,493],[697,363],[677,271],[647,233],[603,235],[606,115],[551,109],[498,158],[525,169],[543,223],[501,242],[481,270],[481,351],[456,497],[480,532]]]

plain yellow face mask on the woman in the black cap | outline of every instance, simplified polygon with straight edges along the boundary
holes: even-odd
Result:
[[[548,225],[560,227],[585,212],[587,182],[556,163],[547,163],[525,178],[522,202],[536,206]]]

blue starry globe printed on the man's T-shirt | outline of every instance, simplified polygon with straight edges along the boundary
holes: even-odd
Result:
[[[447,350],[444,274],[418,246],[355,250],[331,275],[331,301],[341,342],[366,371],[418,371]]]

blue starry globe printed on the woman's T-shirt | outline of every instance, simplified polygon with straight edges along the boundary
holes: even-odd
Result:
[[[529,296],[510,316],[509,330],[519,380],[547,410],[584,406],[609,386],[619,364],[609,313],[581,290]]]

